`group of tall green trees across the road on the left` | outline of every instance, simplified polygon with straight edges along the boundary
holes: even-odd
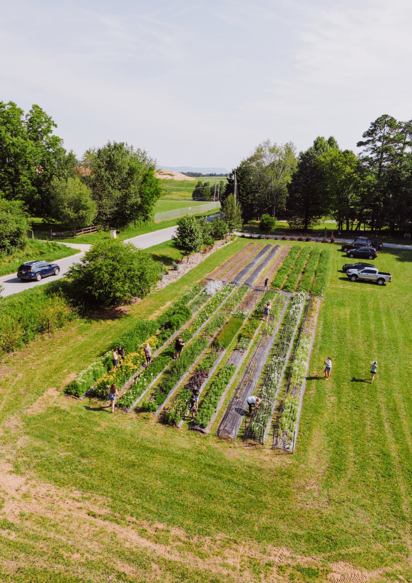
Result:
[[[7,231],[0,239],[9,239],[3,250],[16,246],[13,237],[21,246],[27,214],[70,229],[93,222],[121,229],[149,220],[161,196],[156,161],[145,150],[108,142],[77,159],[54,135],[56,127],[37,105],[25,114],[0,101],[0,231]]]

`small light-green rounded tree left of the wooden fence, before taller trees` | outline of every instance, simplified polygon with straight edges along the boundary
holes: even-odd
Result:
[[[54,178],[50,207],[51,216],[70,229],[91,225],[97,215],[96,202],[91,200],[90,189],[79,177]]]

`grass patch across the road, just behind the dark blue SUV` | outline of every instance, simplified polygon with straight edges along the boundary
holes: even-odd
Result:
[[[0,255],[0,276],[17,271],[22,263],[38,259],[38,261],[57,261],[69,255],[79,253],[78,249],[71,249],[65,245],[59,245],[54,241],[38,241],[27,239],[26,247],[22,251],[16,251],[10,255]]]

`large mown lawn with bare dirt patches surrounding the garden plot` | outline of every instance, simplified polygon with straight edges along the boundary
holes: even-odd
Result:
[[[3,364],[2,455],[20,480],[13,499],[4,495],[6,573],[10,561],[20,560],[23,575],[36,564],[45,581],[110,575],[114,581],[314,583],[346,562],[375,581],[412,580],[409,251],[379,252],[376,264],[393,279],[378,287],[350,282],[339,271],[346,258],[329,245],[332,266],[293,456],[220,441],[213,431],[177,430],[150,413],[110,415],[87,399],[61,395],[24,412],[103,352],[133,317],[148,317],[181,296],[247,243],[223,247],[136,304],[129,317],[80,320]],[[327,356],[329,381],[320,378]],[[26,372],[40,359],[47,378]],[[126,531],[135,537],[127,544]],[[67,578],[47,579],[52,570]],[[25,576],[20,580],[37,581]]]

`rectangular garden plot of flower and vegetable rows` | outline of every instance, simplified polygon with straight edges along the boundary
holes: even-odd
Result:
[[[107,399],[107,387],[115,383],[121,388],[116,403],[119,408],[131,411],[139,405],[139,410],[161,413],[164,422],[180,427],[196,387],[202,398],[190,427],[208,433],[234,386],[217,434],[235,438],[244,419],[246,399],[258,387],[262,406],[253,410],[245,436],[264,443],[306,292],[322,294],[330,258],[329,250],[295,245],[283,262],[276,260],[280,265],[275,271],[274,259],[279,257],[279,249],[279,245],[248,245],[241,257],[241,252],[234,256],[241,259],[238,265],[219,268],[234,274],[233,283],[223,285],[217,280],[206,287],[195,285],[159,318],[137,321],[131,331],[113,344],[124,346],[122,366],[112,369],[110,351],[82,371],[66,391],[80,398],[87,395]],[[282,253],[286,252],[282,249]],[[278,291],[263,294],[259,288],[253,289],[259,275],[263,278],[271,270],[275,272],[272,285]],[[293,294],[295,289],[298,292]],[[268,300],[272,300],[273,307],[269,322],[263,322],[263,306]],[[273,447],[286,451],[292,452],[295,445],[318,307],[319,298],[312,297],[281,408],[278,407]],[[178,335],[182,336],[185,348],[181,359],[174,360],[174,340]],[[153,353],[149,367],[144,366],[146,342]]]

